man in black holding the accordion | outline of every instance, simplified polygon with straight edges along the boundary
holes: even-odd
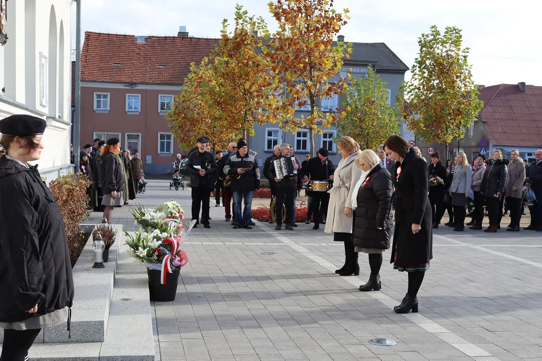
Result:
[[[293,174],[294,169],[298,169],[299,166],[296,163],[295,166],[292,164],[291,158],[289,157],[289,145],[286,143],[283,143],[280,146],[280,155],[273,157],[273,161],[279,160],[281,158],[284,158],[288,156],[286,161],[284,162],[286,167],[288,169],[285,169],[286,174],[290,173],[291,171],[292,175],[286,175],[282,179],[277,178],[276,170],[274,166],[267,167],[267,173],[266,177],[267,179],[273,180],[275,183],[275,194],[276,194],[276,227],[275,229],[277,231],[280,231],[282,226],[282,204],[286,206],[286,229],[289,229],[290,231],[293,231],[292,226],[292,213],[294,209],[294,195],[295,195],[295,176]],[[289,168],[291,167],[291,168]],[[285,202],[286,199],[286,202]]]

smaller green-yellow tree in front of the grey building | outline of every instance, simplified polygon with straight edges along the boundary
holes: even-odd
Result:
[[[398,134],[397,110],[388,102],[385,82],[367,67],[367,76],[352,80],[343,94],[345,116],[337,122],[338,136],[351,136],[364,149],[376,149],[392,134]]]

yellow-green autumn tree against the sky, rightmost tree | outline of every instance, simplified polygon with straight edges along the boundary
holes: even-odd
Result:
[[[412,77],[397,96],[408,129],[429,142],[444,142],[446,154],[451,140],[464,135],[483,106],[467,61],[469,48],[462,43],[460,29],[447,27],[442,34],[433,25],[418,38]]]

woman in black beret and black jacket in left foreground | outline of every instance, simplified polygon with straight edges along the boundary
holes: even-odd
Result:
[[[36,166],[46,122],[0,121],[0,360],[23,361],[40,330],[68,320],[74,288],[59,204]]]

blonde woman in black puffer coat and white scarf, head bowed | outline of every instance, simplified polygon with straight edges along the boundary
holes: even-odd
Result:
[[[369,254],[371,275],[360,291],[380,290],[382,253],[390,248],[391,195],[393,186],[388,170],[372,150],[364,150],[356,157],[356,166],[363,170],[352,191],[354,210],[352,238],[354,251]]]

